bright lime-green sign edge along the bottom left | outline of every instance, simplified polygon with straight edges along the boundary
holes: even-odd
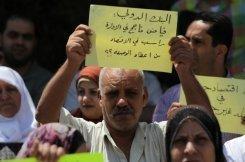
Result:
[[[3,162],[37,162],[36,158],[3,160]],[[79,153],[64,155],[59,162],[103,162],[103,155],[100,153]]]

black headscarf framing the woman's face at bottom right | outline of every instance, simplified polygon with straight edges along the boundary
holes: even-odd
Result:
[[[187,118],[196,119],[208,134],[215,148],[215,161],[225,162],[219,123],[214,116],[211,117],[200,109],[202,109],[202,107],[196,105],[185,106],[168,121],[165,136],[165,148],[168,162],[171,162],[172,142],[174,141],[181,124]]]

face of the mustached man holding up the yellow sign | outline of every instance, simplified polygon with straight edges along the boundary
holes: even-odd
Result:
[[[137,70],[107,69],[102,76],[100,105],[108,128],[117,131],[134,129],[147,97]]]

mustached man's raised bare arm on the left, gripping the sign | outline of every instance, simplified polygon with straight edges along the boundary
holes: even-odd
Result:
[[[86,25],[79,25],[70,35],[66,44],[67,59],[43,90],[37,106],[36,118],[41,123],[59,121],[72,78],[80,64],[89,53],[91,30]]]

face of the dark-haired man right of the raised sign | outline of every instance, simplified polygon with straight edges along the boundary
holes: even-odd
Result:
[[[212,37],[207,33],[210,24],[201,20],[194,21],[188,27],[186,37],[194,49],[194,73],[211,75],[216,62],[216,50],[212,46]]]

